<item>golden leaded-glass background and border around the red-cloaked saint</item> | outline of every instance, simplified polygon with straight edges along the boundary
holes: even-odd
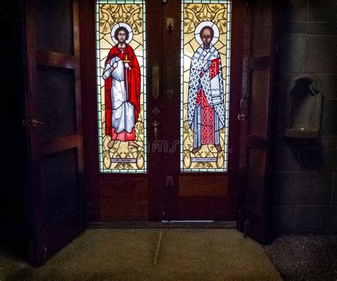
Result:
[[[96,1],[96,60],[97,60],[97,113],[98,113],[98,144],[100,172],[102,173],[144,173],[147,166],[146,155],[146,5],[144,0],[107,0]],[[116,38],[112,34],[117,28],[124,26],[129,31],[129,39],[126,41],[134,52],[139,64],[140,90],[139,109],[137,120],[134,120],[134,143],[138,146],[128,145],[128,141],[114,141],[109,148],[106,120],[108,101],[105,101],[105,74],[107,62],[109,62],[109,50],[117,45]],[[124,65],[129,62],[128,57],[122,57]],[[117,60],[119,60],[117,58]],[[111,62],[112,64],[112,62]],[[129,66],[129,65],[128,65]],[[132,67],[130,67],[132,71]],[[124,72],[125,80],[127,72]],[[132,73],[132,72],[128,72]],[[134,77],[134,76],[132,76]],[[129,82],[130,83],[130,82]],[[126,91],[131,91],[129,83],[125,83]],[[131,81],[132,83],[132,81]],[[132,102],[132,101],[130,101]],[[137,106],[134,106],[135,108]],[[111,115],[111,114],[110,114]],[[113,121],[112,121],[113,122]],[[126,121],[125,121],[126,122]]]

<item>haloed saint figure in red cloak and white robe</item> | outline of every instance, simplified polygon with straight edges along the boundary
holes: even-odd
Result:
[[[120,25],[113,36],[117,45],[109,51],[102,75],[105,79],[105,133],[110,136],[107,146],[112,148],[115,140],[120,140],[137,148],[134,125],[140,111],[139,63],[127,44],[128,29]]]

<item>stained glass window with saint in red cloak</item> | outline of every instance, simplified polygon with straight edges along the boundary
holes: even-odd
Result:
[[[146,172],[144,0],[96,1],[100,172]]]

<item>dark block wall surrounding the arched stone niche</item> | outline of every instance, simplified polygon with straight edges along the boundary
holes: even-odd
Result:
[[[274,174],[276,232],[337,232],[337,1],[287,0],[280,13]],[[312,75],[323,92],[321,137],[282,137],[286,89]]]

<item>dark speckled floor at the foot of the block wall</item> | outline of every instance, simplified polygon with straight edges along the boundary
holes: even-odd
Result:
[[[337,235],[280,235],[263,248],[284,280],[337,280]]]

